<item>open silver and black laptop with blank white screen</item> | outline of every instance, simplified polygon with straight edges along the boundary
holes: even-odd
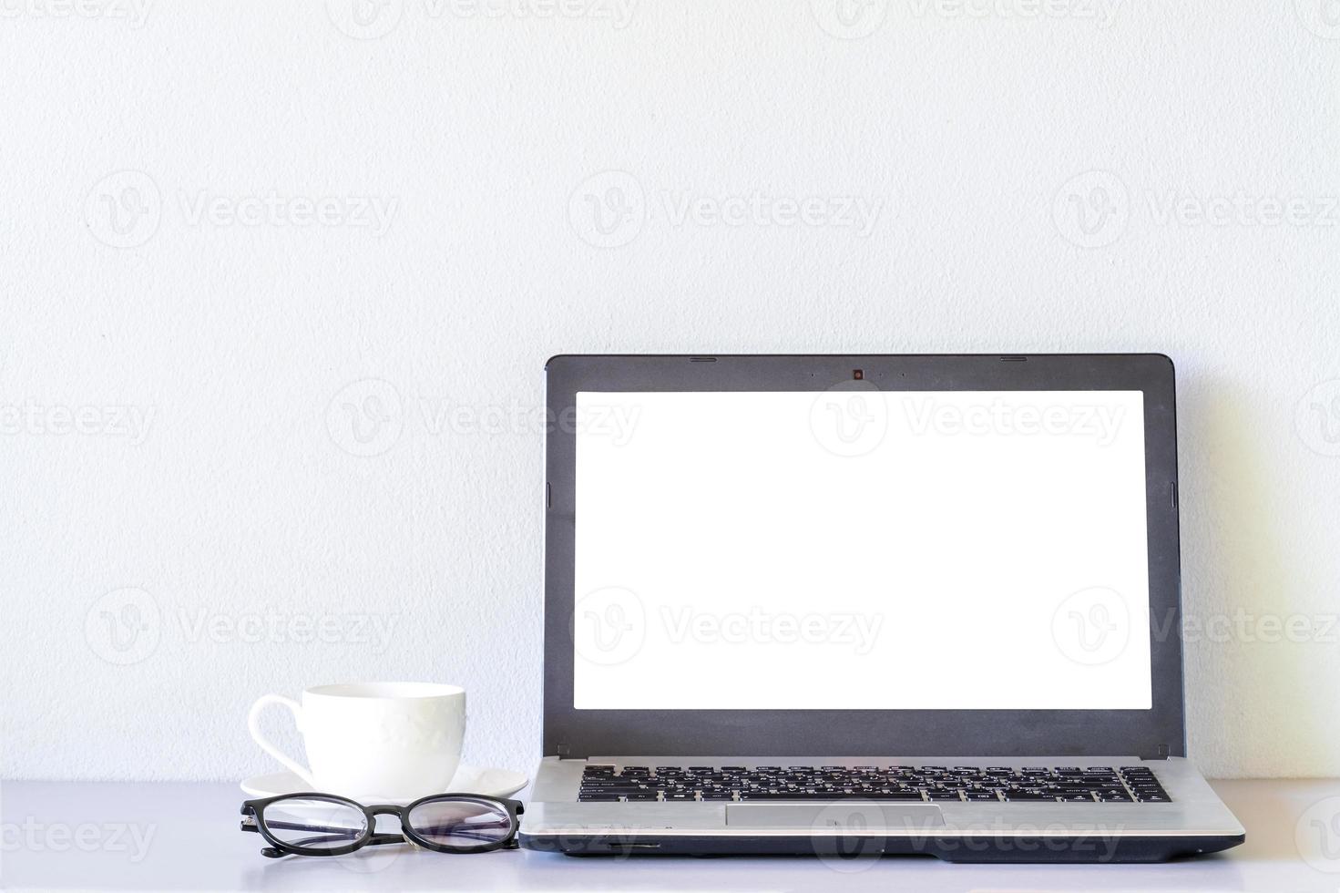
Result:
[[[560,355],[521,846],[1154,862],[1189,762],[1172,362]]]

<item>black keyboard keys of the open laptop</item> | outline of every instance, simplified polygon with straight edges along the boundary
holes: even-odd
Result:
[[[583,803],[835,800],[1171,803],[1144,766],[587,766]]]

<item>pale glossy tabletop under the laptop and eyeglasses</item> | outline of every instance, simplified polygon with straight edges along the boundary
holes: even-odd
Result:
[[[409,846],[261,857],[236,784],[0,783],[0,886],[123,890],[1340,890],[1340,782],[1215,782],[1248,829],[1227,853],[1167,865],[947,865],[813,858],[442,855]],[[1328,799],[1335,798],[1335,799]],[[1301,834],[1300,834],[1301,829]]]

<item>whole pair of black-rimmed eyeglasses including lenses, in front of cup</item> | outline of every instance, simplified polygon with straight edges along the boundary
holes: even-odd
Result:
[[[364,846],[413,843],[436,853],[515,850],[523,813],[519,800],[476,794],[436,794],[409,806],[363,806],[334,794],[283,794],[243,803],[241,830],[271,845],[260,853],[344,855]],[[378,815],[398,815],[399,834],[378,834]]]

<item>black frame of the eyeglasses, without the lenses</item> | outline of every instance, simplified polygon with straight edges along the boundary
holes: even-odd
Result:
[[[355,839],[352,843],[346,843],[344,846],[332,847],[306,847],[295,846],[287,843],[267,827],[265,823],[265,807],[280,800],[323,800],[326,803],[336,803],[340,806],[350,806],[360,811],[367,819],[366,827],[362,837]],[[410,813],[430,802],[452,802],[452,803],[477,803],[482,806],[501,807],[511,822],[507,837],[497,841],[489,841],[486,843],[480,843],[476,846],[449,846],[446,843],[434,843],[414,831],[410,826]],[[434,853],[456,853],[456,854],[469,854],[469,853],[492,853],[494,850],[515,850],[517,849],[516,833],[521,827],[521,814],[525,813],[525,807],[520,800],[512,800],[501,796],[488,796],[485,794],[430,794],[427,796],[421,796],[419,799],[409,803],[406,806],[398,806],[395,803],[373,803],[364,805],[358,800],[351,800],[347,796],[340,796],[338,794],[320,794],[316,791],[304,791],[296,794],[279,794],[277,796],[267,796],[255,800],[244,800],[241,807],[241,814],[245,817],[241,822],[241,830],[253,831],[260,834],[269,846],[261,850],[261,855],[268,858],[281,858],[284,855],[348,855],[364,846],[379,846],[383,843],[413,843],[414,846],[423,847],[425,850],[433,850]],[[377,833],[377,817],[378,815],[395,815],[401,819],[401,833],[399,834],[378,834]],[[312,829],[318,830],[318,829]]]

